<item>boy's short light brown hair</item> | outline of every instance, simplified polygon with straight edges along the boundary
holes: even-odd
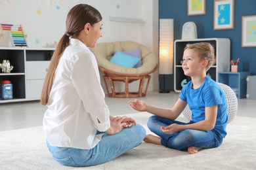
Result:
[[[196,50],[199,54],[200,59],[206,59],[208,61],[208,64],[206,66],[206,71],[208,71],[213,65],[214,61],[214,48],[213,46],[208,42],[199,42],[194,44],[186,44],[184,50],[186,49],[193,49]]]

